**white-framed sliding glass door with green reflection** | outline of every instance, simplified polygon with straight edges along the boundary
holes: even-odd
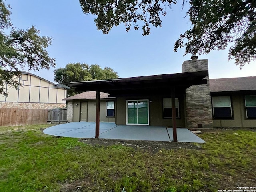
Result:
[[[149,125],[148,100],[126,101],[126,124]]]

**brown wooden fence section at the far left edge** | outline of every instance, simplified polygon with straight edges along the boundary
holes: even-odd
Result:
[[[0,126],[43,124],[47,121],[47,109],[0,109]]]

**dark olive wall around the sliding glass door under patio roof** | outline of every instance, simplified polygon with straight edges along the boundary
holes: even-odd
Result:
[[[126,100],[148,99],[149,100],[149,124],[152,126],[172,126],[172,119],[164,118],[163,98],[170,96],[145,97],[118,97],[116,105],[116,124],[126,125]],[[180,118],[176,119],[178,127],[185,127],[184,96],[179,98]]]

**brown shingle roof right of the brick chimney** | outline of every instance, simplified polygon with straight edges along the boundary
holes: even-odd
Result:
[[[210,79],[211,92],[256,90],[255,77]]]

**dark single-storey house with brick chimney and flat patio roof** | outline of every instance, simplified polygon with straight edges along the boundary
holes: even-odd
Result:
[[[95,122],[100,91],[101,122],[172,126],[173,92],[178,127],[256,127],[256,77],[209,80],[208,60],[197,59],[184,61],[182,72],[72,82],[86,92],[64,99],[68,121]]]

